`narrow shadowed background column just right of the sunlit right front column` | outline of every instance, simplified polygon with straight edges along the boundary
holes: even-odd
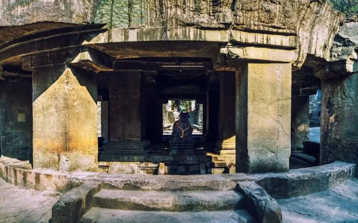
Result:
[[[303,142],[309,140],[309,96],[293,96],[291,109],[291,150],[303,150]]]

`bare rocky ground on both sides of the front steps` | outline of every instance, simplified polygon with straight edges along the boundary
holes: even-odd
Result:
[[[60,194],[14,186],[0,178],[0,222],[49,222]],[[358,179],[327,191],[277,200],[283,222],[358,222]]]

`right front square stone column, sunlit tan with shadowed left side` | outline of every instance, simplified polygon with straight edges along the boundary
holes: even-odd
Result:
[[[248,62],[236,73],[236,171],[288,171],[291,64]]]

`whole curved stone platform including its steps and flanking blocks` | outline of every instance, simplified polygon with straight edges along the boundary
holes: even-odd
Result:
[[[65,192],[52,208],[53,222],[106,222],[113,214],[120,214],[114,219],[124,222],[140,222],[145,215],[148,222],[184,222],[213,212],[228,222],[281,222],[275,199],[324,191],[351,179],[355,170],[355,164],[334,162],[277,174],[156,176],[41,171],[25,161],[0,158],[5,181]],[[182,218],[183,212],[187,218]]]

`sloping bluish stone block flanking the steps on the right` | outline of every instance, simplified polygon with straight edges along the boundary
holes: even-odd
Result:
[[[255,182],[239,182],[237,190],[245,195],[245,209],[258,222],[281,222],[281,207]]]

